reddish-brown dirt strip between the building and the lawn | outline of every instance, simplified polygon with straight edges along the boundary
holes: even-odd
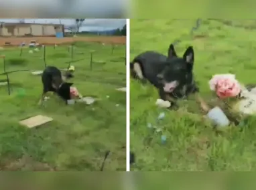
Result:
[[[0,46],[3,46],[5,42],[11,43],[11,45],[20,45],[25,42],[29,43],[31,40],[36,40],[38,43],[45,45],[54,44],[65,44],[72,43],[74,41],[88,41],[88,42],[99,42],[99,43],[115,43],[115,44],[125,44],[126,37],[0,37]]]

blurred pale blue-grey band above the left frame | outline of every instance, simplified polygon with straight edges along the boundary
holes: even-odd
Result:
[[[129,0],[0,0],[0,16],[126,18],[128,7]]]

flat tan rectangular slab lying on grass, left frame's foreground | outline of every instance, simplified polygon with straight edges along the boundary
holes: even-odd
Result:
[[[25,125],[28,128],[33,128],[48,123],[52,120],[53,119],[51,117],[46,117],[44,115],[36,115],[34,117],[30,117],[28,119],[19,121],[19,124]]]

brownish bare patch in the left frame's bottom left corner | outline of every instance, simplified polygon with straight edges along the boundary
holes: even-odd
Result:
[[[34,161],[29,156],[23,156],[16,161],[1,163],[0,171],[56,171],[47,163]]]

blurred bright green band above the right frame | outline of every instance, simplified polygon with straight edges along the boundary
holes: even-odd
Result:
[[[147,7],[145,8],[145,3]],[[180,18],[195,19],[203,18],[227,18],[227,19],[251,19],[254,18],[253,1],[153,1],[153,0],[133,0],[131,3],[131,13],[133,18]],[[192,8],[193,7],[193,8]],[[155,11],[161,10],[161,11]]]

